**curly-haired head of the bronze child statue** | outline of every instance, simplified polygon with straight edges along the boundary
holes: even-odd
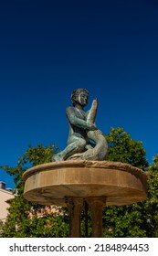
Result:
[[[75,91],[72,91],[71,94],[71,101],[73,106],[76,106],[77,103],[82,105],[83,107],[88,104],[89,100],[89,91],[87,91],[84,88],[76,89]]]

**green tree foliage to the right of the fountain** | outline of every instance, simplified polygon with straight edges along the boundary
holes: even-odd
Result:
[[[146,171],[148,162],[142,142],[133,140],[122,128],[111,128],[107,136],[108,160],[131,164]],[[157,158],[156,158],[157,159]],[[104,209],[103,225],[105,237],[157,237],[156,223],[158,191],[156,163],[150,166],[148,175],[148,197],[145,201],[130,206],[111,206]],[[153,171],[154,174],[153,174]],[[147,172],[148,173],[148,172]],[[146,174],[147,174],[146,173]],[[154,201],[154,203],[153,203]]]

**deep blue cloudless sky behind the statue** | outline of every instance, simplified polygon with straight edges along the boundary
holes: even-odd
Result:
[[[0,3],[0,165],[28,144],[66,146],[65,109],[76,88],[100,102],[103,133],[123,127],[158,153],[156,0]],[[90,104],[89,104],[90,107]],[[0,170],[0,180],[14,187]]]

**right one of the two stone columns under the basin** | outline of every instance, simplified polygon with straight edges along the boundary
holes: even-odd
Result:
[[[102,238],[102,208],[106,197],[88,197],[86,201],[91,209],[92,237]]]

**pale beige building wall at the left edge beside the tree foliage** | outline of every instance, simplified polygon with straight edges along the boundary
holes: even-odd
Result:
[[[14,198],[11,191],[0,188],[0,220],[5,221],[7,216],[7,208],[9,204],[7,200]]]

